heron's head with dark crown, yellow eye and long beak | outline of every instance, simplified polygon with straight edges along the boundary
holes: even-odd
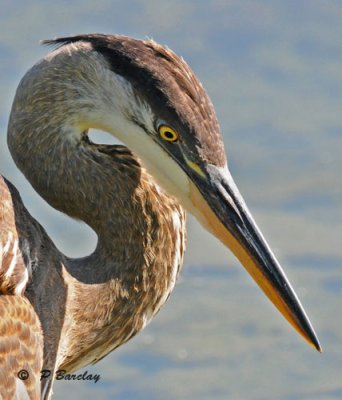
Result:
[[[214,108],[193,71],[149,40],[87,35],[54,43],[78,41],[104,59],[124,92],[113,94],[121,124],[115,113],[99,126],[135,150],[159,184],[232,250],[290,324],[320,350],[300,301],[229,173]]]

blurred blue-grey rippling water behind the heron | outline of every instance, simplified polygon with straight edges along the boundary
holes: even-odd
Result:
[[[342,3],[0,0],[0,173],[71,256],[89,253],[95,235],[35,194],[11,160],[6,127],[20,78],[48,51],[39,40],[90,32],[152,37],[198,74],[232,174],[324,353],[189,217],[169,302],[143,333],[86,368],[98,383],[57,382],[54,399],[342,399]]]

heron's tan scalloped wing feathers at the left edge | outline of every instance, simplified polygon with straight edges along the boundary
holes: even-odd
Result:
[[[0,397],[4,399],[21,394],[40,398],[43,333],[36,310],[23,296],[36,261],[32,220],[18,191],[0,175]]]

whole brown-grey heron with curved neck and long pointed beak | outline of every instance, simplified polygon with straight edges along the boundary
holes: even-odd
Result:
[[[88,257],[66,257],[0,180],[2,398],[48,399],[56,370],[94,363],[144,328],[183,261],[183,207],[320,350],[228,171],[213,106],[187,64],[153,41],[124,36],[47,43],[58,48],[17,89],[9,148],[34,189],[86,222],[98,244]],[[92,143],[91,128],[132,152]],[[42,369],[51,376],[40,388]]]

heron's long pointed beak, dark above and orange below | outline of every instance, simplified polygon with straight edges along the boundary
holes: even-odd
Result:
[[[191,210],[229,247],[288,322],[318,351],[308,317],[281,266],[259,231],[228,169],[207,166],[207,177],[190,182]]]

